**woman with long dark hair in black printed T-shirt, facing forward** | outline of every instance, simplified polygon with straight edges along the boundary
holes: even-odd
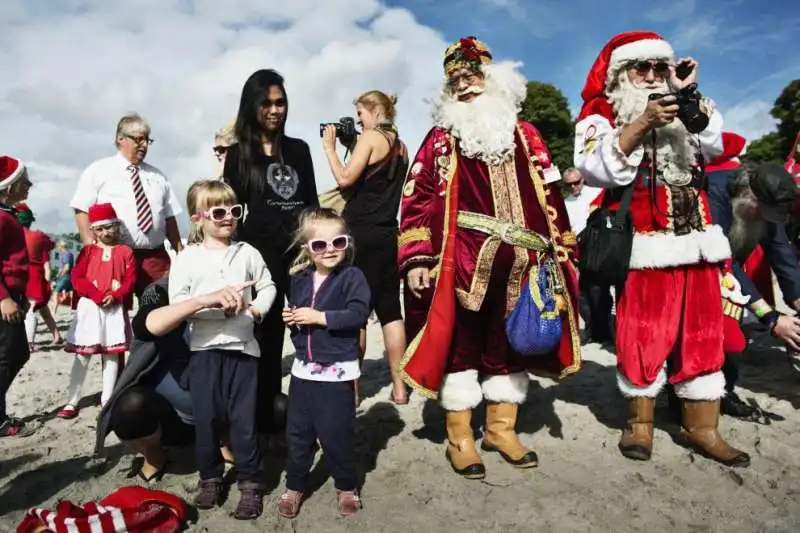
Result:
[[[275,281],[275,304],[256,336],[261,349],[258,413],[262,433],[275,433],[271,406],[281,392],[285,326],[281,317],[288,290],[290,250],[301,211],[319,206],[311,152],[301,139],[284,134],[289,102],[283,78],[274,70],[254,72],[242,88],[234,127],[237,144],[228,149],[223,179],[247,207],[238,239],[261,252]]]

